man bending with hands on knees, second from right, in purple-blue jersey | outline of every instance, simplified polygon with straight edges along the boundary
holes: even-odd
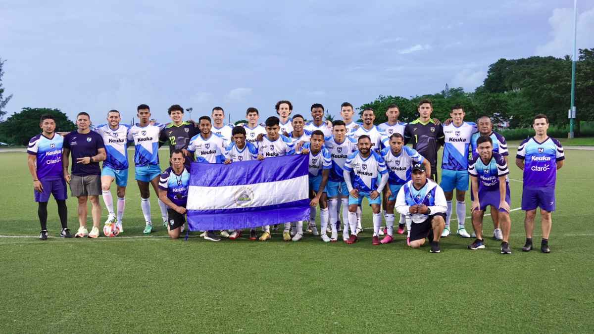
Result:
[[[511,254],[508,243],[511,230],[511,196],[507,179],[510,170],[507,168],[504,157],[493,152],[493,141],[490,137],[479,137],[476,140],[476,146],[479,153],[473,155],[468,166],[472,181],[472,227],[475,229],[476,240],[468,248],[471,250],[485,248],[482,238],[482,219],[486,207],[491,206],[497,207],[499,210],[501,230],[503,231],[501,254]]]

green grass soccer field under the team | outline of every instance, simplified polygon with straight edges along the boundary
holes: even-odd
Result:
[[[522,174],[510,151],[514,209]],[[165,166],[167,151],[160,153]],[[50,202],[54,238],[42,242],[26,153],[0,153],[0,332],[591,333],[594,152],[565,155],[552,253],[522,253],[523,212],[516,210],[513,254],[503,256],[491,238],[479,251],[466,249],[470,239],[444,238],[441,254],[427,246],[412,250],[402,236],[374,247],[369,229],[355,245],[325,244],[307,234],[300,242],[283,242],[279,234],[270,242],[208,242],[195,235],[172,241],[162,225],[144,237],[133,171],[124,234],[58,238]],[[75,232],[75,199],[68,199],[68,209]],[[366,208],[365,227],[370,213]],[[490,237],[490,218],[484,231]]]

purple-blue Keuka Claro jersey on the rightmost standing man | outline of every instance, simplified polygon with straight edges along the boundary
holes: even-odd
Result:
[[[517,159],[524,160],[524,187],[555,187],[557,181],[557,161],[565,159],[563,146],[551,137],[539,143],[530,137],[518,147]]]

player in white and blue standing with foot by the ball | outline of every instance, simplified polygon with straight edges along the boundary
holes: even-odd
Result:
[[[126,186],[128,185],[128,124],[121,124],[119,111],[112,109],[108,112],[107,124],[98,125],[93,130],[100,134],[105,144],[107,157],[103,162],[101,170],[101,191],[103,203],[108,209],[108,219],[105,225],[110,226],[115,223],[119,233],[124,232],[122,227],[122,218],[124,217],[124,208],[126,206]],[[113,212],[113,197],[111,194],[111,184],[115,180],[118,195],[118,216],[116,220]]]

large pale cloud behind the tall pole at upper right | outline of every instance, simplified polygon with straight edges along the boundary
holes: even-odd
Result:
[[[579,12],[578,12],[579,13]],[[573,8],[555,8],[549,17],[551,40],[536,47],[538,56],[564,56],[573,53]],[[577,49],[594,44],[594,8],[577,15]]]

